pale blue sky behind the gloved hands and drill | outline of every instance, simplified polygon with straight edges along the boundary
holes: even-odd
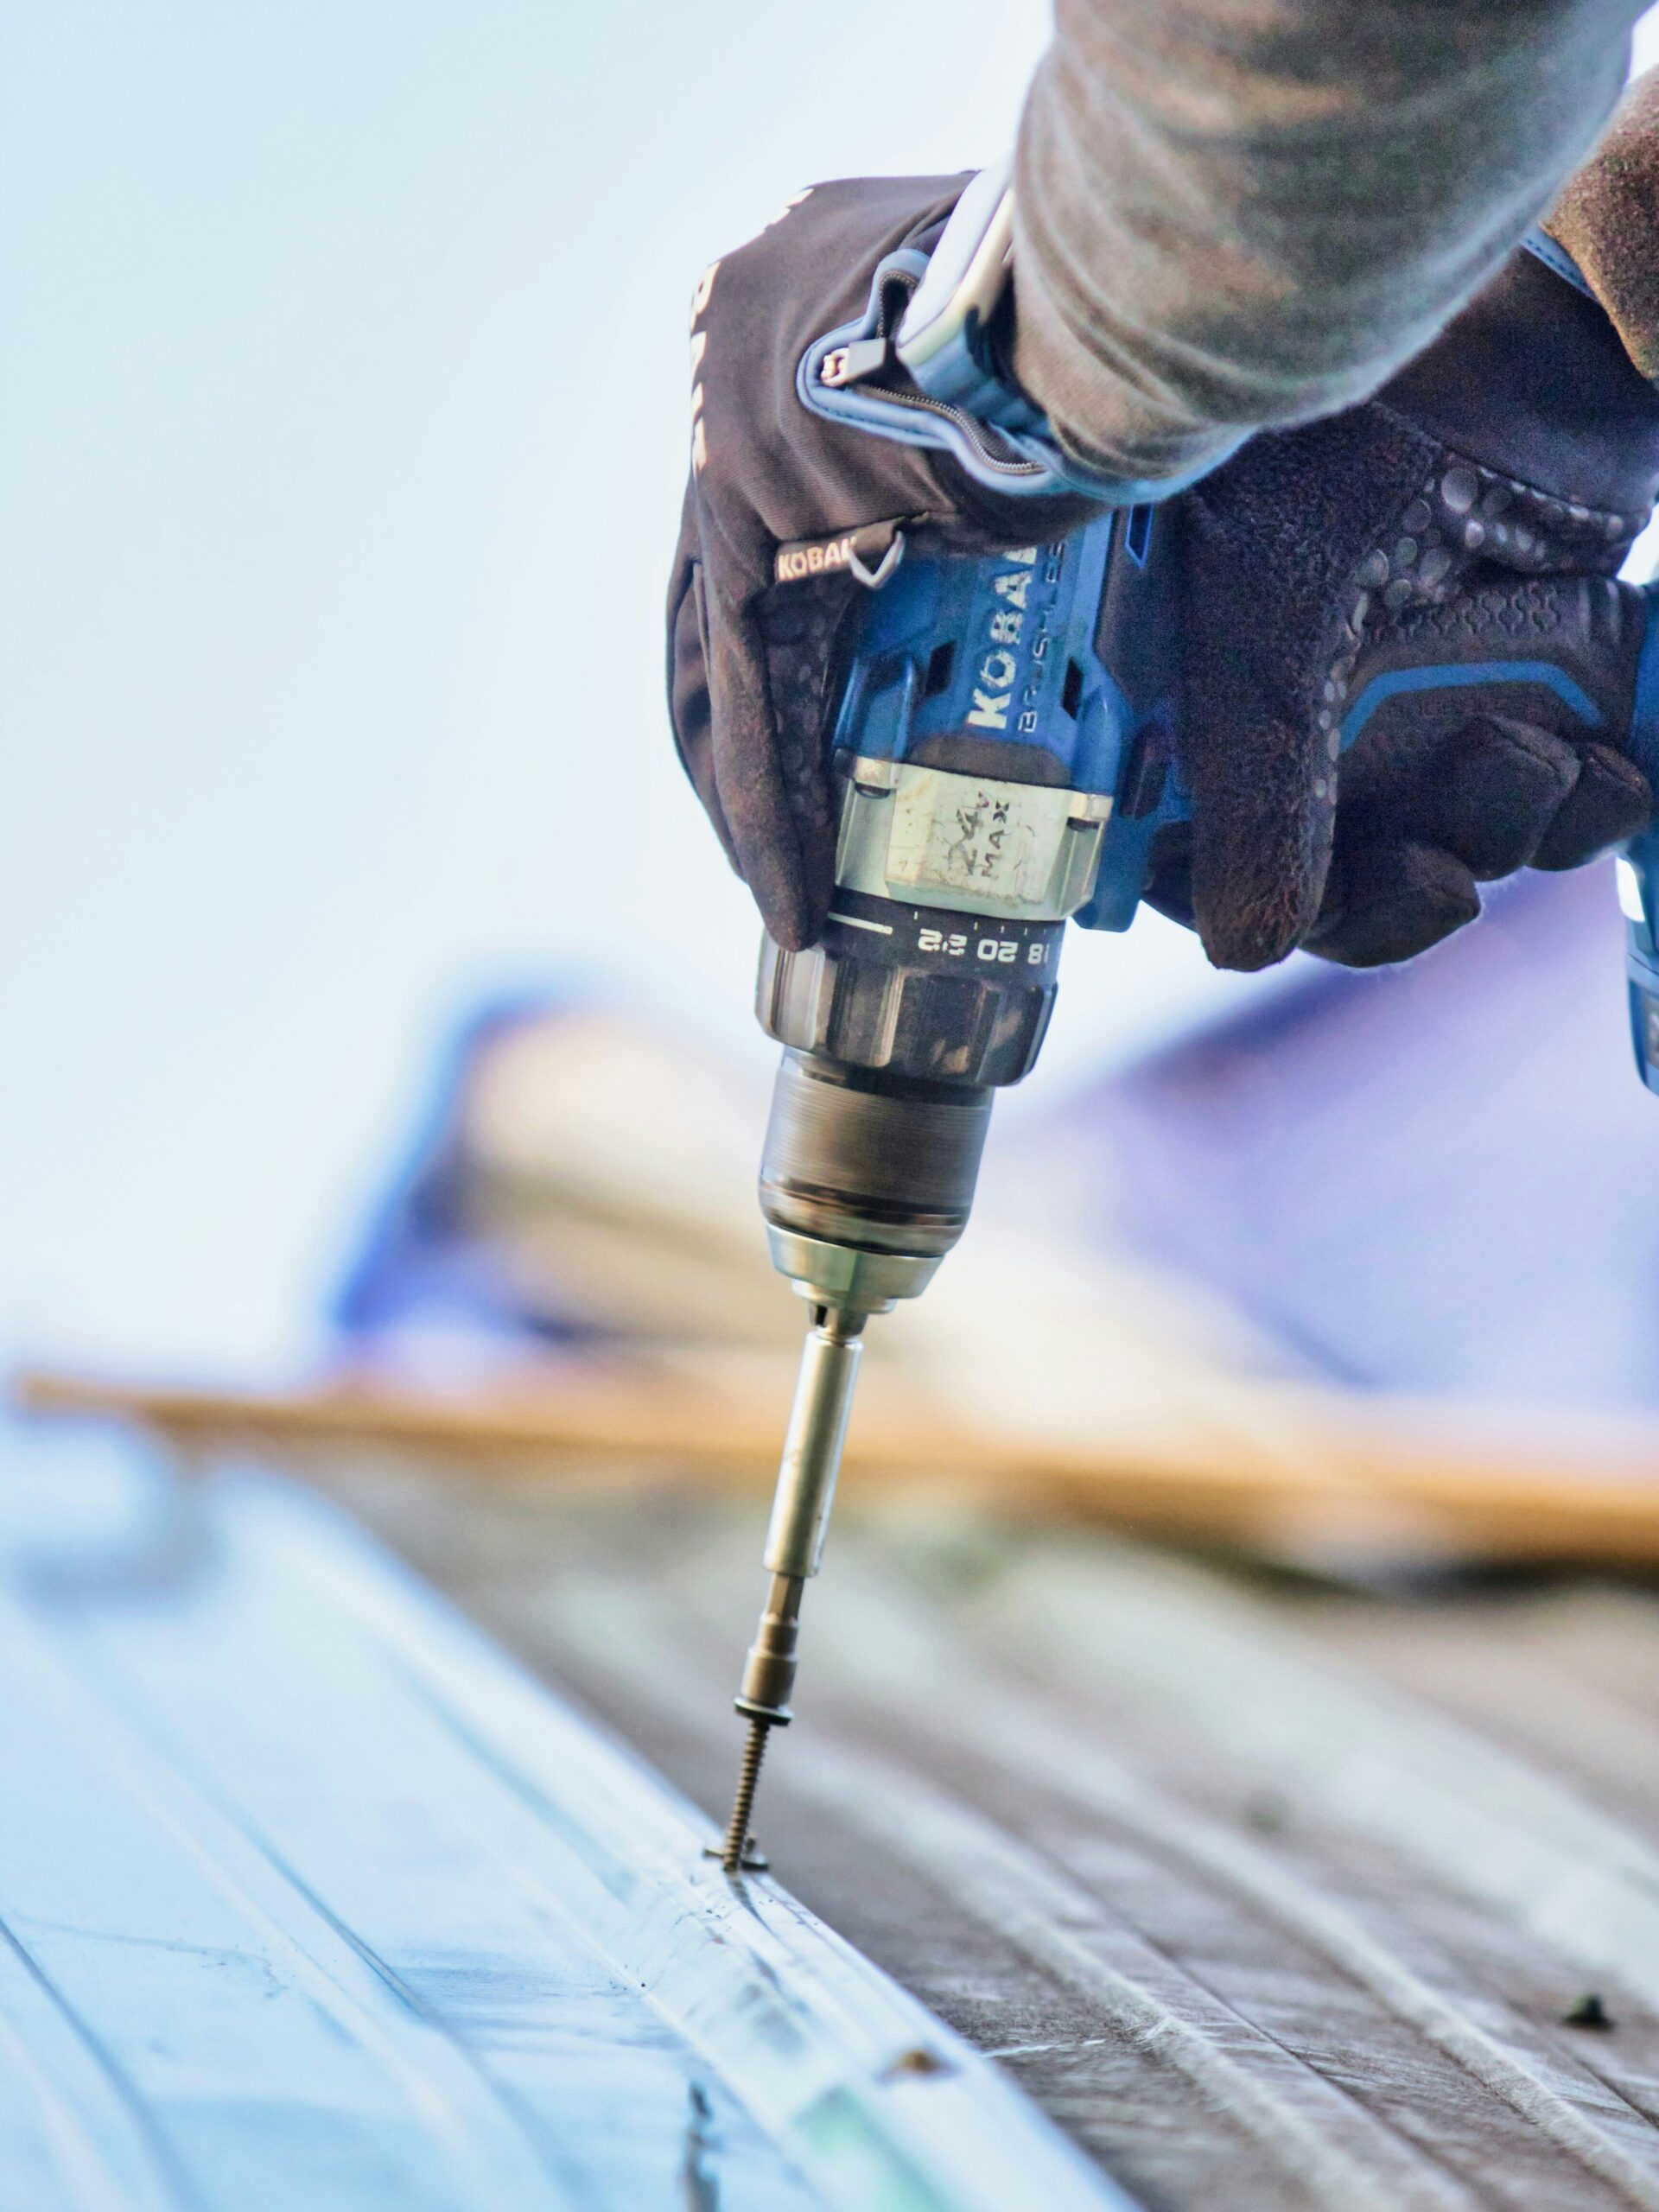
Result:
[[[803,181],[1004,148],[1044,20],[7,11],[7,1354],[303,1352],[478,991],[765,1055],[661,712],[686,299]],[[1248,989],[1077,936],[1037,1082]]]

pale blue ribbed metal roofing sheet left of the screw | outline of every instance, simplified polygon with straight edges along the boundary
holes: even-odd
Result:
[[[316,1500],[0,1484],[7,2212],[1124,2205]]]

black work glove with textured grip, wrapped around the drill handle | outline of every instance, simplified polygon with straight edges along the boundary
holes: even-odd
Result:
[[[1183,502],[1194,821],[1152,900],[1217,967],[1369,967],[1471,920],[1478,878],[1635,834],[1652,794],[1617,743],[1646,611],[1613,575],[1657,487],[1659,396],[1526,250],[1374,400],[1252,438]],[[1371,677],[1517,639],[1601,734],[1546,686],[1400,690],[1338,763]]]

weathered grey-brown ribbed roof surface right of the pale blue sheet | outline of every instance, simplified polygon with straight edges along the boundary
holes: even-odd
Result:
[[[336,1478],[723,1807],[757,1509]],[[902,1511],[810,1593],[759,1818],[801,1898],[1146,2205],[1659,2212],[1650,1593]]]

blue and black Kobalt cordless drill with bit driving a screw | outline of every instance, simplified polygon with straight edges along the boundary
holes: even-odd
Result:
[[[761,1164],[772,1261],[812,1307],[765,1544],[772,1575],[737,1710],[750,1721],[721,1860],[763,1865],[750,1812],[787,1723],[801,1595],[818,1571],[865,1321],[927,1287],[962,1234],[991,1099],[1035,1064],[1068,920],[1126,929],[1190,799],[1177,759],[1179,507],[1057,544],[911,549],[867,595],[830,728],[836,889],[823,940],[761,953],[783,1046]],[[1590,588],[1597,588],[1595,584]],[[1652,599],[1652,595],[1650,595]],[[1610,714],[1517,639],[1363,659],[1340,741],[1396,701],[1480,684],[1586,734]],[[1659,622],[1630,750],[1659,783]],[[1659,830],[1619,860],[1637,1066],[1659,1091]]]

